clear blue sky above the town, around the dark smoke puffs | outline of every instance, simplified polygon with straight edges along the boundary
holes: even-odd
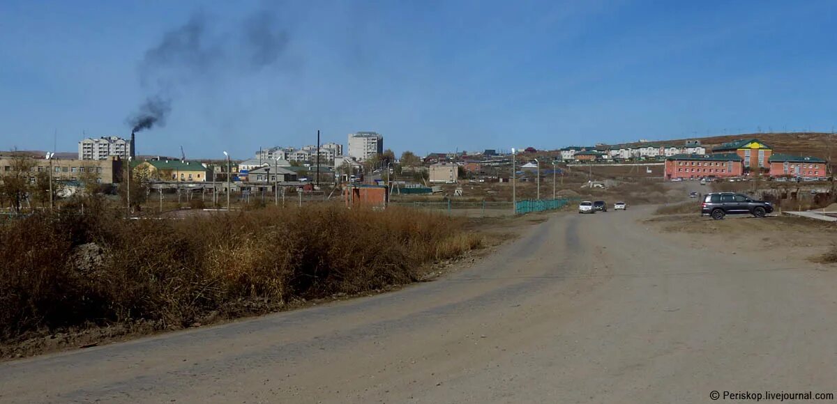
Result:
[[[130,136],[151,95],[171,100],[140,154],[252,155],[259,146],[550,149],[837,125],[837,3],[0,2],[0,149],[75,151]],[[254,18],[282,35],[254,66]],[[143,69],[193,18],[200,69]],[[180,60],[180,59],[177,59]],[[175,62],[177,62],[175,60]]]

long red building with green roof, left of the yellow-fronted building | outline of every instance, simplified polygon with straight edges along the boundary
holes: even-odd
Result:
[[[741,176],[742,161],[737,153],[677,154],[665,159],[665,179]]]

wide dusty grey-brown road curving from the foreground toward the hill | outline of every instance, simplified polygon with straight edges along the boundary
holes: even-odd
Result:
[[[837,392],[837,275],[652,208],[556,214],[392,294],[0,364],[0,402],[708,402]]]

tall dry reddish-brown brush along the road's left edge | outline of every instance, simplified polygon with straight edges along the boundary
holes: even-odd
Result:
[[[0,342],[139,321],[179,328],[384,289],[483,243],[464,220],[398,208],[321,204],[185,220],[122,214],[88,201],[83,214],[68,204],[0,224]]]

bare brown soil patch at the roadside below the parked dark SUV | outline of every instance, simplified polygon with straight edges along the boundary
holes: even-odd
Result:
[[[644,223],[670,233],[688,248],[726,253],[756,253],[778,260],[820,259],[837,239],[832,223],[804,217],[732,217],[713,220],[698,214],[651,217]]]

